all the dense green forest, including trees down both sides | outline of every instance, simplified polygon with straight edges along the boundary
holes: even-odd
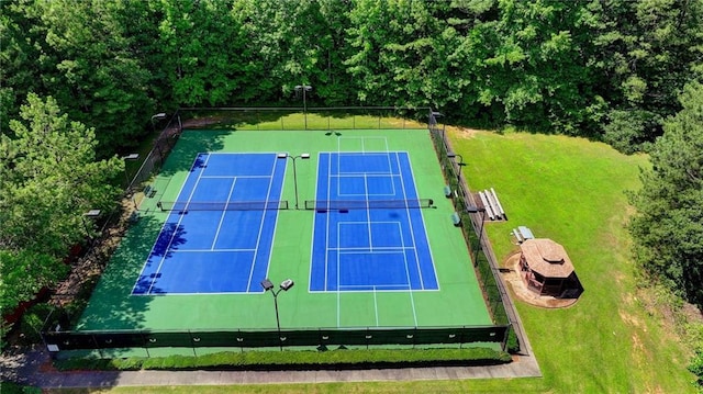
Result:
[[[0,307],[64,274],[179,106],[432,106],[651,154],[637,261],[703,304],[703,0],[0,2]],[[89,235],[89,234],[88,234]]]

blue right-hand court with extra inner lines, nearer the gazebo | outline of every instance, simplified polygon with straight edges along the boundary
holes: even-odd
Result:
[[[437,290],[408,153],[321,153],[310,291]],[[393,205],[393,204],[391,204]],[[364,207],[366,206],[366,207]]]

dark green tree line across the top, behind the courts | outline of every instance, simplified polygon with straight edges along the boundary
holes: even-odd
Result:
[[[700,0],[14,0],[2,130],[26,94],[96,128],[99,157],[178,106],[433,106],[453,122],[661,135],[701,69]]]

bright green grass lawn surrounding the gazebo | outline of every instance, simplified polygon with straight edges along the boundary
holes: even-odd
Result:
[[[624,228],[626,190],[644,156],[565,136],[449,131],[473,190],[495,188],[509,215],[486,229],[495,255],[517,248],[510,230],[532,228],[565,246],[585,288],[566,309],[516,302],[544,378],[208,387],[120,387],[60,393],[694,393],[677,337],[638,300]]]

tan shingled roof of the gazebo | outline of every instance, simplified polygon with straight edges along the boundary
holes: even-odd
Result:
[[[525,239],[520,247],[529,268],[545,278],[569,278],[573,272],[569,255],[551,239]]]

